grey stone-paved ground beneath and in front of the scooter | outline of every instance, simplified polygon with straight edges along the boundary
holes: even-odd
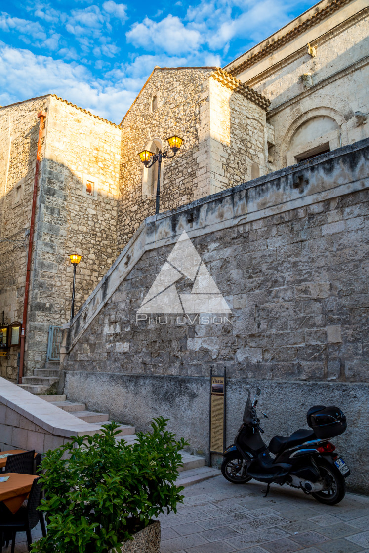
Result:
[[[323,505],[303,492],[222,476],[184,490],[176,514],[160,515],[161,553],[369,553],[369,497]]]

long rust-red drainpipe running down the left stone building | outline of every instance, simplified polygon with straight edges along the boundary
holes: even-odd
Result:
[[[42,132],[43,132],[43,130],[44,130],[44,119],[45,119],[45,117],[46,117],[46,112],[45,112],[45,111],[40,111],[40,112],[37,114],[37,117],[40,119],[40,127],[39,127],[39,131],[38,131],[37,156],[36,156],[36,169],[35,169],[35,179],[34,179],[34,184],[33,184],[33,198],[32,198],[31,223],[30,223],[30,227],[29,227],[27,272],[25,273],[22,332],[20,333],[20,358],[19,358],[18,384],[22,384],[22,378],[23,378],[24,346],[25,346],[25,329],[26,329],[26,327],[27,327],[27,309],[28,309],[29,279],[30,279],[30,274],[31,274],[32,246],[33,246],[33,231],[34,231],[34,223],[35,223],[36,199],[37,199],[37,186],[38,186],[38,174],[39,174],[39,168],[40,168],[40,155],[41,155],[41,138],[42,138]]]

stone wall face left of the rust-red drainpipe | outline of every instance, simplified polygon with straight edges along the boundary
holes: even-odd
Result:
[[[22,321],[39,119],[48,97],[0,109],[0,323]],[[15,197],[18,190],[19,201]],[[12,241],[12,242],[9,242]],[[19,242],[13,242],[19,241]],[[0,375],[15,378],[19,347],[0,357]]]

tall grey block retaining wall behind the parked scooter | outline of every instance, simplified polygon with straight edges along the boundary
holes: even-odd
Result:
[[[138,429],[163,414],[206,453],[210,367],[226,367],[227,443],[250,387],[262,384],[273,414],[267,438],[304,427],[311,405],[337,404],[349,429],[335,442],[351,487],[367,489],[355,452],[367,432],[368,147],[148,218],[65,331],[64,392]],[[184,230],[232,316],[137,317]],[[178,280],[179,293],[191,291],[189,280]]]

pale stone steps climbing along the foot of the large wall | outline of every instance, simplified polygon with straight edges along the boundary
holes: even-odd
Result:
[[[46,363],[47,364],[47,363]],[[35,371],[48,371],[52,369],[35,369]],[[25,378],[53,378],[53,377],[25,377]],[[28,389],[27,387],[41,387],[45,384],[42,383],[26,383],[21,384],[22,388]],[[32,389],[28,389],[29,392],[33,392]],[[45,401],[49,401],[59,409],[67,411],[71,415],[74,415],[76,418],[84,420],[86,422],[92,422],[93,427],[100,426],[102,427],[109,420],[109,415],[107,413],[96,413],[95,411],[88,411],[84,403],[74,403],[73,401],[67,401],[65,395],[41,395],[38,393],[40,398]],[[127,444],[134,444],[137,440],[135,434],[136,429],[134,426],[127,424],[120,424],[117,428],[119,434],[116,436],[116,441],[124,440]],[[214,478],[219,476],[220,471],[216,468],[206,467],[204,457],[199,457],[198,455],[191,455],[190,453],[184,452],[182,454],[183,467],[179,468],[179,477],[177,479],[178,486],[192,486],[198,482],[202,482],[209,478]]]

